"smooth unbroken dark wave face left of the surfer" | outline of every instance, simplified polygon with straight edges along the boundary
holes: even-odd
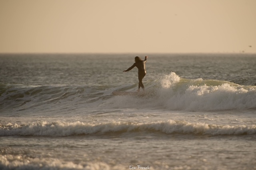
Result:
[[[43,105],[91,103],[104,96],[97,86],[81,85],[0,85],[0,108],[26,109]]]

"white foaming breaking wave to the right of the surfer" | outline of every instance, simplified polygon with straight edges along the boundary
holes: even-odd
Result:
[[[183,79],[172,72],[146,82],[146,87],[143,97],[118,97],[112,101],[113,105],[185,111],[256,109],[256,86],[220,80]]]

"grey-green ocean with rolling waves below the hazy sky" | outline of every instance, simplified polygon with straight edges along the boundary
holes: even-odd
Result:
[[[148,56],[145,91],[138,69]],[[1,170],[256,169],[256,54],[0,54]]]

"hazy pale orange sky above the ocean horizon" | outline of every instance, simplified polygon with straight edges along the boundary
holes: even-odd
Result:
[[[241,51],[256,0],[0,0],[0,53]]]

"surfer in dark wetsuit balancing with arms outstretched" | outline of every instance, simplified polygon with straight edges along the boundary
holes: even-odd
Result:
[[[127,70],[123,71],[123,72],[130,71],[135,66],[138,68],[138,79],[139,79],[138,92],[140,91],[140,87],[144,90],[144,85],[142,83],[142,79],[146,75],[145,63],[147,61],[147,58],[148,58],[148,56],[145,56],[145,59],[142,60],[140,57],[136,56],[135,57],[135,63],[131,67],[129,67]]]

